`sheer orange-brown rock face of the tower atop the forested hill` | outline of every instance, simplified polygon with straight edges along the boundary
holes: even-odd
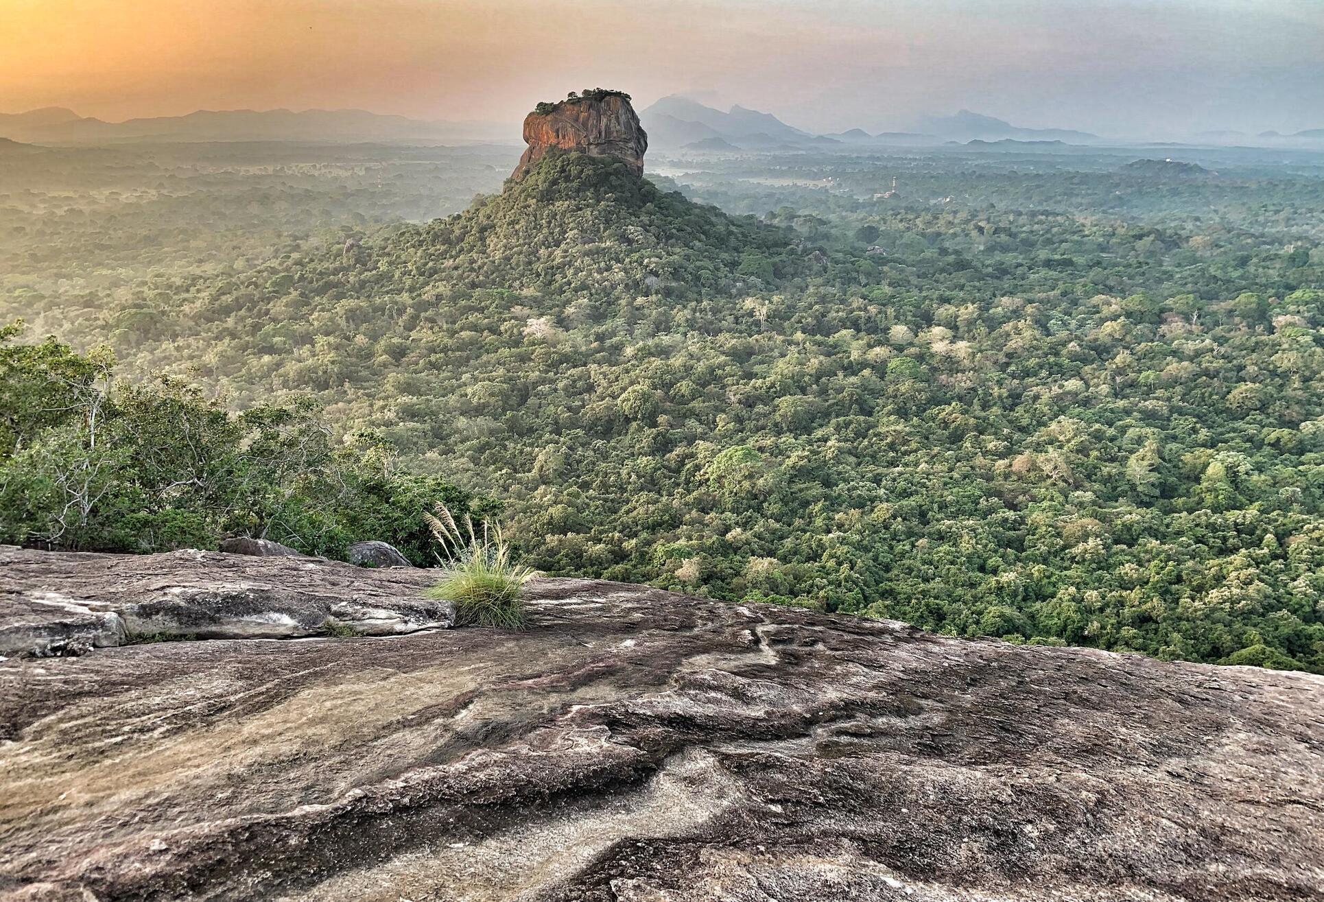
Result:
[[[555,105],[539,105],[524,118],[528,147],[511,174],[522,179],[551,150],[579,151],[592,156],[614,156],[643,174],[643,154],[649,136],[630,98],[617,93],[593,93]]]

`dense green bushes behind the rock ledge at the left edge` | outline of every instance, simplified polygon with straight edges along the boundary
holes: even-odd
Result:
[[[106,350],[21,335],[0,326],[0,542],[151,552],[250,535],[343,558],[372,538],[422,566],[421,507],[491,506],[397,470],[380,432],[336,440],[310,399],[232,413],[177,379],[117,383]]]

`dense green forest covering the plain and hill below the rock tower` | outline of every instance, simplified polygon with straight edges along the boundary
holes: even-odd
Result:
[[[449,217],[269,220],[118,279],[115,248],[74,287],[29,209],[0,313],[238,430],[310,393],[369,495],[399,456],[552,574],[1324,672],[1319,171],[972,156],[553,156]],[[384,538],[336,517],[303,531]]]

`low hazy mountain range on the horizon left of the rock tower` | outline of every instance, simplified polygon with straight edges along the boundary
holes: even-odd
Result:
[[[64,107],[0,114],[0,138],[41,144],[199,140],[469,142],[508,140],[510,126],[425,122],[365,110],[199,110],[106,122]]]

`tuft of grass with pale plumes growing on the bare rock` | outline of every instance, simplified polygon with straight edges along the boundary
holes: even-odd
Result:
[[[428,597],[455,605],[457,626],[502,626],[520,629],[527,623],[524,583],[538,571],[514,560],[499,525],[483,523],[482,530],[465,515],[461,528],[450,510],[437,503],[436,513],[424,514],[437,542],[450,552],[450,560],[437,559],[446,575],[428,589]]]

